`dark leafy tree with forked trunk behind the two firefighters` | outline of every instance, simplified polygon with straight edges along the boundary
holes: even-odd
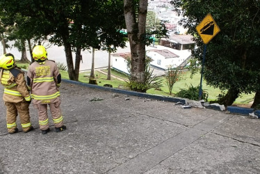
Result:
[[[80,54],[90,47],[102,45],[124,47],[123,2],[120,0],[23,0],[0,1],[0,7],[8,15],[27,17],[24,33],[35,38],[49,37],[49,42],[65,47],[69,77],[79,78]],[[15,21],[16,22],[16,21]],[[72,51],[76,52],[75,65]]]

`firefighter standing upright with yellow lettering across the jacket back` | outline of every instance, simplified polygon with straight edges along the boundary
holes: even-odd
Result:
[[[49,105],[55,131],[61,132],[66,127],[60,111],[60,72],[56,63],[47,59],[47,51],[42,45],[33,48],[33,59],[35,62],[31,63],[27,73],[27,86],[31,90],[33,106],[38,109],[40,129],[42,134],[50,130],[47,115]]]

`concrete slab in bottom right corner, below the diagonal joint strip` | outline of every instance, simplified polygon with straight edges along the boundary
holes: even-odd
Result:
[[[260,148],[209,133],[145,174],[260,173]]]

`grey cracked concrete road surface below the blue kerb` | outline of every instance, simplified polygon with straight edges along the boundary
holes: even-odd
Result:
[[[50,121],[42,135],[31,104],[36,129],[7,134],[0,102],[0,173],[260,173],[260,119],[64,81],[60,92],[60,133]]]

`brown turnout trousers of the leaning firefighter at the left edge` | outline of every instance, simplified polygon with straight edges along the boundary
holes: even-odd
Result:
[[[15,132],[17,127],[16,118],[19,114],[20,122],[24,132],[27,132],[31,127],[30,115],[29,115],[29,103],[28,102],[4,102],[6,105],[6,123],[9,133]]]

